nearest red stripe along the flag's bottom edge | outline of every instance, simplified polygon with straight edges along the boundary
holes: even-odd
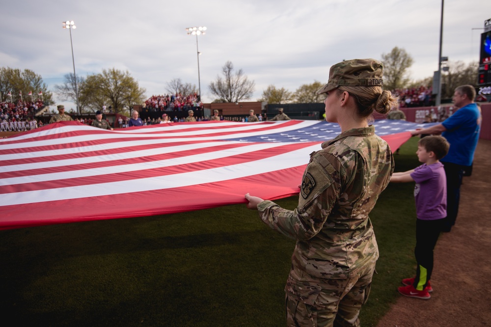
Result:
[[[246,203],[244,195],[251,192],[264,199],[277,199],[299,193],[297,187],[305,165],[270,173],[193,185],[189,187],[87,197],[43,203],[5,206],[1,208],[0,229],[42,226],[66,222],[133,218],[187,212],[223,205]],[[267,188],[265,185],[276,185]],[[110,207],[111,210],[108,210]],[[70,215],[67,215],[70,208]],[[74,210],[73,208],[83,208]],[[60,210],[61,209],[61,210]],[[19,219],[19,211],[23,212]]]

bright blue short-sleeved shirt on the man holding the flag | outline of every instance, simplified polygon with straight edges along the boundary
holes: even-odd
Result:
[[[450,143],[448,154],[441,161],[470,166],[481,130],[481,113],[477,105],[471,103],[462,107],[441,124],[446,128],[441,135]]]

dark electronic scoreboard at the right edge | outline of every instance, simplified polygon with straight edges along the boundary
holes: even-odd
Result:
[[[478,93],[491,94],[491,19],[484,22],[484,33],[481,34],[481,55],[479,58]]]

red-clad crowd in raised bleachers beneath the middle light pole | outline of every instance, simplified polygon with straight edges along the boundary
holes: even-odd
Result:
[[[187,111],[190,109],[201,109],[202,107],[203,105],[196,93],[186,97],[181,93],[152,95],[143,104],[143,110],[148,111]]]

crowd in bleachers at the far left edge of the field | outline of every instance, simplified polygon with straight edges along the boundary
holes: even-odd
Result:
[[[17,101],[0,103],[0,131],[28,131],[39,127],[34,114],[44,108],[41,99],[33,102]],[[42,122],[41,122],[42,124]]]

